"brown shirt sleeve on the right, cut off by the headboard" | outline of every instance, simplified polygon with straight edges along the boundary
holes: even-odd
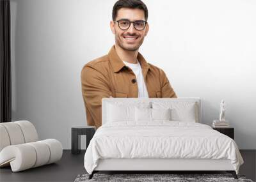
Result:
[[[162,98],[177,98],[173,87],[171,86],[166,74],[160,69],[161,95]]]

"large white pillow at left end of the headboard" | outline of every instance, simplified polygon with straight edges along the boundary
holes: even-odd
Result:
[[[107,122],[134,121],[134,106],[108,104]]]

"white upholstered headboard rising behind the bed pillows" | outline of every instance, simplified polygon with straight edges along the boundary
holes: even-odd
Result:
[[[114,104],[114,105],[138,105],[138,104],[143,104],[143,105],[150,105],[152,107],[153,102],[163,102],[163,103],[169,103],[171,102],[172,104],[176,103],[195,103],[196,105],[196,115],[198,117],[198,123],[201,123],[201,100],[200,98],[102,98],[102,125],[106,123],[106,116],[108,114],[107,108],[108,104]]]

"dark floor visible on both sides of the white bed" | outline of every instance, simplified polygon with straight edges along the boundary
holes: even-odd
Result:
[[[239,174],[255,181],[256,178],[256,150],[241,150],[244,164]],[[59,162],[21,172],[12,172],[10,167],[0,169],[0,181],[74,181],[78,174],[86,173],[83,165],[84,151],[79,155],[72,155],[70,150],[63,150]]]

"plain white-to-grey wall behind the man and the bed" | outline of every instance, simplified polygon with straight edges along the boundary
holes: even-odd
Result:
[[[140,52],[168,75],[180,97],[199,96],[203,123],[220,101],[240,149],[256,149],[256,2],[144,1],[149,32]],[[115,1],[11,0],[13,121],[70,149],[72,125],[86,125],[83,65],[108,54]]]

